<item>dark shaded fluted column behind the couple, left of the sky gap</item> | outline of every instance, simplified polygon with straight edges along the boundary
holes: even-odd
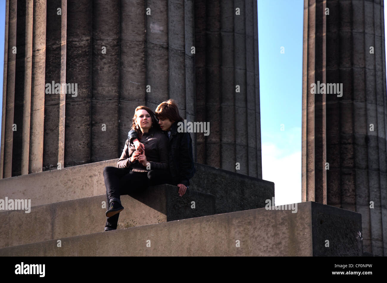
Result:
[[[195,1],[195,47],[197,162],[262,178],[257,1]]]

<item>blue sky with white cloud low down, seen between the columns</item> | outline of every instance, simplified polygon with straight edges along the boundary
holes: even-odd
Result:
[[[0,78],[3,78],[4,25],[5,0],[0,0]],[[276,205],[298,203],[301,202],[303,0],[258,0],[258,35],[263,179],[274,182]],[[280,52],[281,46],[284,54]],[[1,111],[2,99],[0,117]]]

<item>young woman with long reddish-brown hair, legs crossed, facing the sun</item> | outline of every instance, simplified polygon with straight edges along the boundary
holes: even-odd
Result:
[[[121,205],[120,196],[145,189],[147,186],[168,183],[168,138],[160,129],[153,111],[147,106],[136,108],[132,119],[132,130],[146,145],[136,150],[129,139],[125,142],[116,167],[106,166],[103,177],[106,186],[106,211],[104,231],[117,228]]]

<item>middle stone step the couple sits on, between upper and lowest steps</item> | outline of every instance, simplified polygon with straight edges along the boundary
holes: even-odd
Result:
[[[120,212],[118,229],[215,214],[211,194],[188,189],[180,197],[178,187],[167,184],[123,195],[121,201],[125,209]],[[29,213],[2,211],[0,247],[102,232],[105,211],[106,194],[33,206]]]

